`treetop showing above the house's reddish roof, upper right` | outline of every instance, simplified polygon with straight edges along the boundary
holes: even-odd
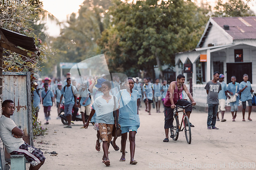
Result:
[[[213,16],[217,17],[230,17],[230,16],[254,16],[253,11],[250,10],[248,3],[251,0],[229,0],[223,3],[223,0],[218,0],[217,6],[215,7],[216,12]]]

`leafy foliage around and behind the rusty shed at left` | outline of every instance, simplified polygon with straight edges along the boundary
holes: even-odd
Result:
[[[7,0],[7,2],[13,1]],[[46,39],[44,32],[42,32],[45,25],[44,23],[38,24],[38,21],[46,16],[48,12],[42,9],[42,2],[39,0],[28,0],[27,2],[29,3],[21,5],[0,5],[0,27],[33,37],[35,39],[35,45],[40,52],[40,56],[28,51],[28,57],[25,57],[4,49],[3,70],[12,72],[30,71],[30,81],[33,83],[35,80],[34,75],[40,71],[40,63],[45,61],[47,53],[47,44],[45,42],[43,43],[41,40]],[[33,90],[31,86],[32,95]],[[44,135],[47,129],[41,127],[41,123],[37,122],[34,114],[35,108],[32,107],[34,137]]]

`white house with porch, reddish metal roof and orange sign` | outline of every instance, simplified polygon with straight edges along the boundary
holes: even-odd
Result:
[[[183,74],[193,84],[205,84],[214,71],[256,84],[256,17],[211,17],[197,47],[176,54],[176,75]]]

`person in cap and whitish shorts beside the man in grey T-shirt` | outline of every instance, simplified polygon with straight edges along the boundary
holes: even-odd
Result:
[[[221,90],[219,92],[219,107],[218,107],[218,113],[217,113],[217,121],[220,121],[219,118],[219,111],[221,111],[221,122],[225,122],[226,119],[224,119],[224,112],[225,112],[225,106],[226,106],[226,99],[227,99],[227,84],[224,82],[224,75],[220,74],[219,82],[221,84]],[[229,97],[229,96],[228,96]]]

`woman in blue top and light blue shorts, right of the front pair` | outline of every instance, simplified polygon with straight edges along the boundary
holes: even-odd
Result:
[[[120,104],[119,109],[119,124],[121,126],[121,148],[122,156],[120,161],[125,161],[125,145],[127,140],[127,132],[129,132],[130,140],[130,152],[131,152],[131,161],[130,164],[136,164],[137,161],[134,160],[135,153],[135,135],[140,126],[140,118],[137,107],[138,99],[140,99],[139,92],[133,90],[134,80],[129,77],[125,81],[126,89],[120,90],[117,93],[117,99]]]

